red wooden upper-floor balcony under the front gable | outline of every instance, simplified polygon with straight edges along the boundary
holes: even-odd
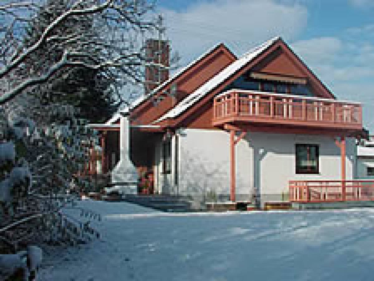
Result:
[[[214,99],[214,126],[267,123],[362,130],[360,103],[230,90]]]

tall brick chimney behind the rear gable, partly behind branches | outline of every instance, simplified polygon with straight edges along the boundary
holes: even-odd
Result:
[[[160,66],[145,66],[144,93],[149,94],[154,88],[169,79],[170,48],[168,40],[147,39],[145,51],[148,63],[160,64]]]

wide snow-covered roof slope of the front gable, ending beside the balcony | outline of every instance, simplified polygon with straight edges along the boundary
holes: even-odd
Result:
[[[220,73],[215,75],[212,79],[210,79],[208,82],[203,84],[200,88],[198,88],[188,97],[186,97],[186,99],[178,103],[177,106],[175,106],[170,111],[168,111],[166,114],[164,114],[162,117],[160,117],[158,120],[156,120],[155,123],[165,120],[167,118],[175,118],[181,113],[183,113],[184,111],[186,111],[186,109],[194,105],[197,101],[199,101],[202,97],[208,94],[211,90],[213,90],[215,87],[220,85],[227,78],[229,78],[231,75],[236,73],[243,66],[248,64],[258,55],[260,55],[263,51],[265,51],[267,48],[273,45],[273,43],[275,43],[278,39],[280,39],[280,37],[274,37],[264,42],[260,46],[257,46],[256,48],[253,48],[249,52],[245,53],[242,57],[234,61],[232,64],[230,64],[225,69],[223,69]]]

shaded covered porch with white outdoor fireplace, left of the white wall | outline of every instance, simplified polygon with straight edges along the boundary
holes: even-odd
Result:
[[[132,176],[137,187],[136,192],[153,194],[155,148],[165,133],[159,126],[129,124],[127,118],[123,117],[125,120],[119,120],[119,124],[90,124],[92,129],[99,132],[100,145],[91,149],[84,174],[93,180],[105,179],[104,189],[110,193],[116,190],[116,187],[126,189],[126,185],[129,185],[126,181],[118,182],[113,178],[113,173],[121,173],[121,170],[114,172],[119,166],[126,166],[122,172],[136,173]],[[121,126],[120,122],[125,124]],[[135,180],[135,177],[138,180]]]

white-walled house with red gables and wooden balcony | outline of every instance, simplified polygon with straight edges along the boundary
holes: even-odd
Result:
[[[141,192],[139,181],[147,193],[262,206],[368,196],[353,184],[361,104],[337,100],[281,37],[241,57],[218,44],[92,127],[107,191]]]

